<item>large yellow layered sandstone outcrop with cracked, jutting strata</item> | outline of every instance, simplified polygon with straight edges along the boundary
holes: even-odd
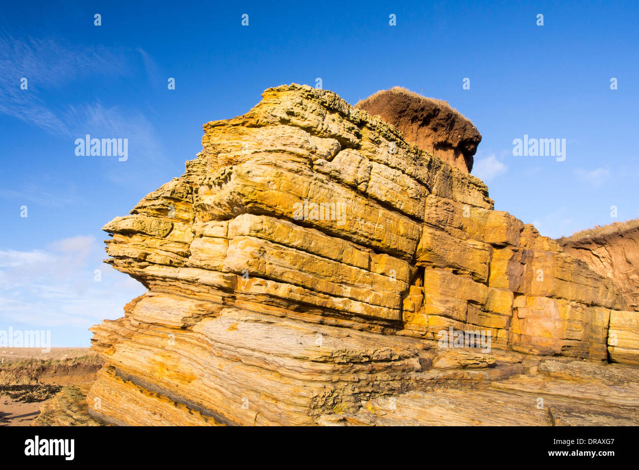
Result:
[[[511,424],[637,423],[635,370],[604,365],[639,357],[636,324],[608,345],[624,297],[493,210],[474,176],[295,84],[207,123],[202,144],[184,175],[104,227],[108,262],[148,292],[92,329],[105,359],[93,418],[504,424],[507,403],[527,407]],[[389,403],[406,415],[379,418]],[[447,412],[420,421],[424,407]]]

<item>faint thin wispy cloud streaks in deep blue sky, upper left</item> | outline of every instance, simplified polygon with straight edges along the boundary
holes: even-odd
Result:
[[[74,156],[75,139],[87,134],[98,139],[127,139],[127,164],[114,166],[117,159],[97,159],[101,173],[112,182],[130,184],[148,175],[164,158],[160,136],[145,114],[125,106],[105,106],[100,100],[60,104],[56,88],[88,77],[127,74],[138,54],[152,82],[158,75],[155,61],[142,49],[112,50],[100,46],[68,45],[58,40],[17,40],[0,35],[0,113],[13,116],[69,142]],[[20,78],[28,90],[20,90]],[[151,165],[151,162],[154,162]],[[146,172],[146,173],[145,173]],[[0,198],[21,198],[47,207],[64,204],[69,198],[49,197],[40,187],[0,189]]]

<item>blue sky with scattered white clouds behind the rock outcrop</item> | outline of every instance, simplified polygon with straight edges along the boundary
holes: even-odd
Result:
[[[397,85],[447,100],[482,134],[473,173],[495,207],[543,235],[639,217],[638,13],[636,2],[4,2],[0,329],[89,345],[88,327],[144,292],[102,264],[100,228],[183,173],[203,123],[317,77],[351,104]],[[76,156],[86,134],[128,138],[128,160]],[[566,139],[566,160],[514,157],[524,134]]]

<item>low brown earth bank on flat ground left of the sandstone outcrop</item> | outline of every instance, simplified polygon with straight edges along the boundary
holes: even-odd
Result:
[[[93,382],[102,364],[88,348],[0,348],[0,426],[30,425],[65,386]]]

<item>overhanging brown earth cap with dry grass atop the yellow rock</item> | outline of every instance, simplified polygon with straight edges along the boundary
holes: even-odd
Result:
[[[355,107],[380,116],[404,134],[406,142],[435,153],[451,166],[470,173],[481,134],[473,123],[442,100],[405,88],[378,91]]]

